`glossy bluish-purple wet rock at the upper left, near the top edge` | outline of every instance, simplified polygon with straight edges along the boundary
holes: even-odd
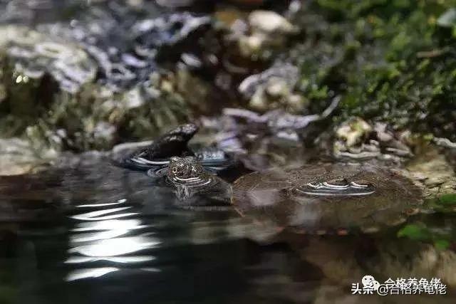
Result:
[[[157,62],[176,63],[182,53],[197,48],[197,41],[211,29],[206,15],[160,11],[142,4],[90,6],[71,24],[40,26],[42,31],[77,41],[98,64],[99,82],[117,90],[147,80]],[[146,14],[145,14],[146,13]]]

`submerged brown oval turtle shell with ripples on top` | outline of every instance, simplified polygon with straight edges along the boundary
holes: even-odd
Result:
[[[410,179],[370,164],[254,172],[232,188],[232,204],[243,216],[321,234],[400,224],[418,211],[422,197],[422,189]]]

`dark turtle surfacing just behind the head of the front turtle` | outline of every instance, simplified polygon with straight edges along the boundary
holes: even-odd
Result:
[[[156,140],[143,146],[141,143],[133,145],[133,152],[130,146],[120,147],[120,154],[123,157],[113,159],[115,164],[128,169],[146,171],[150,177],[163,177],[167,173],[170,157],[192,156],[195,157],[202,166],[211,171],[219,172],[231,167],[234,159],[217,147],[204,147],[192,150],[188,142],[198,132],[195,124],[188,123],[179,125]],[[127,150],[127,151],[125,151]]]

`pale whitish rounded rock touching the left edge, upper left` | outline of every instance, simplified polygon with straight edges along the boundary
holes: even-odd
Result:
[[[36,99],[46,75],[71,94],[95,79],[94,62],[76,44],[21,26],[1,26],[0,35],[0,46],[6,48],[4,78],[9,80],[9,93]]]

